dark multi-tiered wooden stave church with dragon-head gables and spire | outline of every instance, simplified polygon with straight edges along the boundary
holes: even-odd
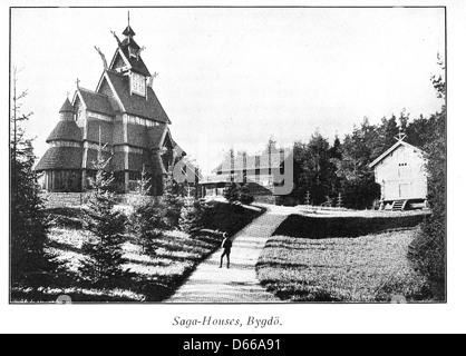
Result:
[[[49,148],[36,166],[48,192],[81,192],[95,176],[93,161],[98,146],[108,158],[114,188],[119,194],[135,189],[143,169],[151,178],[152,194],[161,195],[164,178],[186,154],[173,140],[171,120],[153,90],[154,76],[144,63],[142,48],[129,26],[117,36],[117,49],[95,91],[79,87],[59,110],[60,120],[47,138]]]

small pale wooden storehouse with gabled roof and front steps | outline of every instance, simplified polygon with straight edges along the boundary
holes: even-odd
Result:
[[[426,159],[405,138],[400,134],[398,141],[369,165],[381,187],[380,209],[405,210],[427,205]]]

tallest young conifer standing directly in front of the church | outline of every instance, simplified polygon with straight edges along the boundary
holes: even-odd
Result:
[[[115,195],[109,191],[114,177],[105,169],[109,159],[103,157],[99,146],[97,159],[93,162],[97,170],[96,178],[90,181],[90,197],[84,207],[85,227],[93,233],[95,239],[84,244],[82,251],[87,258],[79,268],[85,281],[101,287],[117,285],[129,277],[123,265],[123,243],[126,218],[115,210]]]

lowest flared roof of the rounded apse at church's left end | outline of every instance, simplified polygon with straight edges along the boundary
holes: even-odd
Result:
[[[80,169],[82,149],[78,147],[50,147],[37,164],[35,170]]]

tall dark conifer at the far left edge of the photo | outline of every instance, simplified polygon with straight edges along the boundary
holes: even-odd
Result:
[[[61,265],[48,249],[49,219],[33,170],[32,140],[25,138],[25,130],[20,127],[20,122],[29,120],[32,112],[20,112],[21,100],[28,92],[17,95],[17,73],[14,69],[10,138],[11,283],[13,288],[38,288],[54,283]]]

